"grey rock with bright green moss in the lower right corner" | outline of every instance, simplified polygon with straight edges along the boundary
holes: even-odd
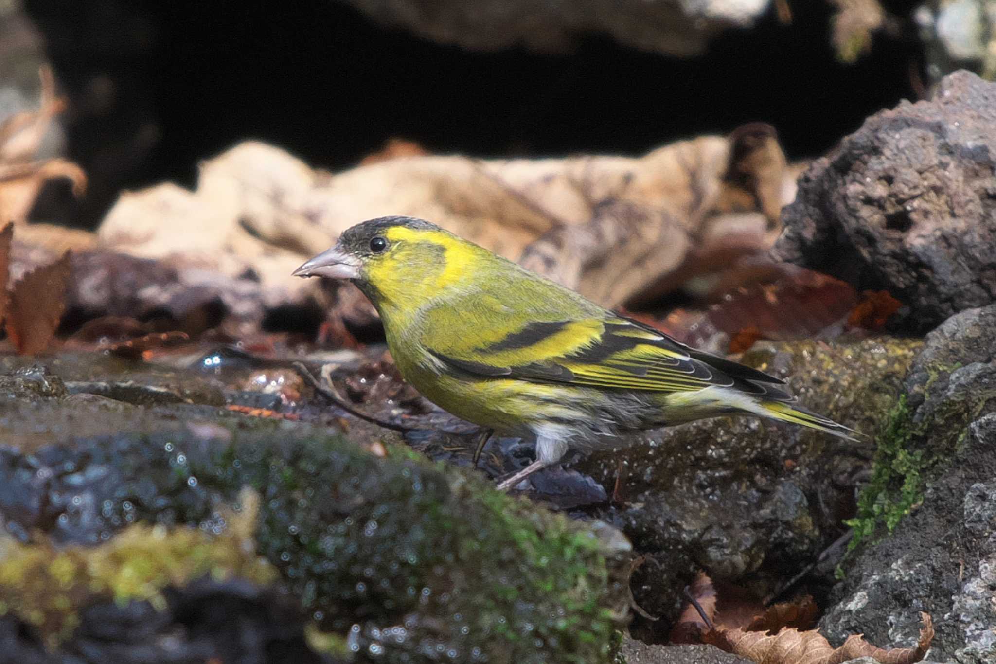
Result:
[[[908,642],[925,610],[937,627],[932,659],[996,659],[994,321],[996,307],[953,317],[913,362],[875,461],[890,470],[872,476],[873,509],[859,514],[873,528],[856,525],[868,538],[821,621],[832,640]]]

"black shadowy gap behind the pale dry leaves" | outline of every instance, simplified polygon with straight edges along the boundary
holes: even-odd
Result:
[[[91,180],[84,200],[56,192],[49,204],[88,228],[121,189],[191,184],[199,160],[248,137],[340,169],[390,137],[479,156],[637,154],[764,120],[790,158],[816,156],[921,93],[911,29],[877,31],[845,63],[832,45],[837,9],[773,2],[749,29],[716,30],[701,53],[677,57],[591,30],[472,50],[337,0],[23,3],[70,102],[66,156]]]

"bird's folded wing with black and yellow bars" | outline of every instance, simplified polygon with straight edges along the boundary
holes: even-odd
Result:
[[[618,318],[532,322],[474,348],[429,352],[452,370],[600,388],[676,392],[734,386],[782,400],[778,378]]]

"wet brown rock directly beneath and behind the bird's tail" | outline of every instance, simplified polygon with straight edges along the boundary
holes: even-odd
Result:
[[[869,436],[894,403],[915,341],[828,345],[779,343],[744,361],[778,376],[809,407]],[[871,439],[847,441],[753,418],[716,418],[654,433],[649,445],[599,453],[578,468],[597,478],[611,505],[589,511],[622,530],[647,559],[634,572],[636,603],[660,620],[633,628],[659,640],[704,569],[748,586],[758,597],[784,583],[844,532],[856,486],[868,469]],[[619,479],[617,480],[617,477]],[[808,579],[821,594],[833,565]],[[797,589],[792,589],[795,592]]]

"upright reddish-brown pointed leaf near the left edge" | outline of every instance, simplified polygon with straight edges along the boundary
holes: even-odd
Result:
[[[37,354],[52,341],[66,309],[70,273],[70,253],[66,252],[14,284],[5,326],[18,354]]]

